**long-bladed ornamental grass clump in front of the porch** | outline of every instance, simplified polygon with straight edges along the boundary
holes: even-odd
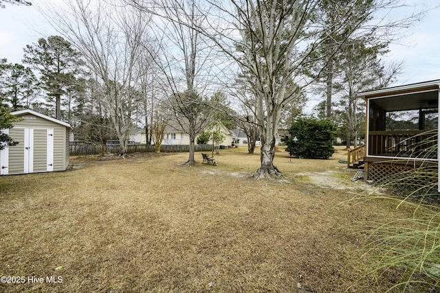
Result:
[[[421,165],[382,182],[380,187],[397,191],[394,196],[368,198],[394,200],[396,209],[409,209],[411,213],[406,218],[363,222],[364,231],[370,235],[364,257],[377,263],[370,274],[395,274],[395,285],[388,288],[388,292],[439,292],[438,166],[426,160],[437,159],[437,130],[419,134],[415,143],[408,141],[401,142],[406,146],[406,153],[400,156],[421,159]]]

